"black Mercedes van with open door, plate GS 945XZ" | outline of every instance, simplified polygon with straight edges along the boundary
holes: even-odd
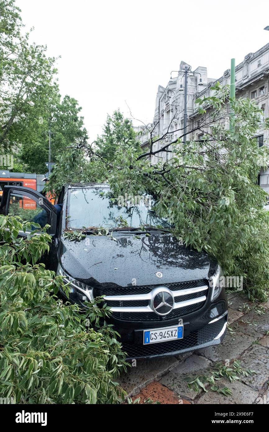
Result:
[[[47,265],[70,282],[71,302],[85,307],[85,302],[105,296],[129,359],[221,343],[228,304],[225,288],[218,284],[222,270],[216,260],[181,245],[146,200],[119,205],[109,193],[108,184],[66,184],[58,197],[58,217],[37,191],[5,186],[0,213],[17,211],[22,219],[33,220],[27,206],[18,205],[25,200],[34,203],[35,214],[45,215],[52,236]],[[80,241],[64,236],[66,229],[84,227],[86,236]],[[92,235],[93,227],[104,227],[108,235]]]

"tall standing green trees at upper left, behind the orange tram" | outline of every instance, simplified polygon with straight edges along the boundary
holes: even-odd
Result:
[[[0,0],[0,151],[14,152],[16,169],[44,173],[51,117],[52,160],[70,142],[86,140],[76,99],[61,100],[55,58],[23,33],[14,0]]]

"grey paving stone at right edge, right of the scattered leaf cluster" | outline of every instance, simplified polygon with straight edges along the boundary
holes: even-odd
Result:
[[[269,349],[254,344],[240,358],[241,366],[250,369],[256,374],[242,378],[242,381],[254,390],[260,390],[269,380]]]

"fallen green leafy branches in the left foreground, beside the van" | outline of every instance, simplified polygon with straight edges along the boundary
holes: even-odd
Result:
[[[0,216],[0,394],[13,403],[117,403],[126,370],[107,307],[63,303],[61,276],[37,262],[51,238],[18,238],[31,224]],[[98,300],[97,300],[98,303]]]

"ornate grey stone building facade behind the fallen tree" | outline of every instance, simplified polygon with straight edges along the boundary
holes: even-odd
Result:
[[[184,87],[184,70],[188,66],[183,61],[180,63],[178,75],[169,80],[166,87],[158,86],[156,96],[155,114],[152,124],[142,127],[135,127],[138,132],[142,130],[141,140],[142,147],[148,147],[149,130],[153,127],[154,135],[163,135],[169,127],[169,135],[165,138],[169,143],[182,135],[184,126],[184,91],[180,91],[180,85]],[[191,68],[190,68],[191,69]],[[217,81],[216,79],[207,76],[206,67],[197,67],[193,75],[188,75],[187,83],[187,130],[193,129],[196,121],[199,118],[198,106],[195,104],[197,98],[203,98],[204,95],[209,96],[210,87]],[[230,83],[230,69],[225,70],[218,81],[221,85]],[[200,78],[203,85],[200,84]],[[238,64],[235,68],[235,84],[236,97],[250,98],[256,101],[259,108],[263,110],[264,117],[269,117],[269,44],[255,53],[249,53],[245,56],[244,61]],[[181,87],[182,88],[182,87]],[[176,115],[175,115],[176,114]],[[227,123],[228,127],[228,123]],[[178,131],[178,129],[181,129]],[[269,145],[269,131],[260,129],[256,133],[257,142],[261,145]],[[199,140],[203,139],[203,133],[195,132],[193,136],[188,136],[187,139]],[[163,145],[156,143],[156,146]],[[158,147],[155,147],[158,149]],[[158,156],[152,156],[151,162],[157,163],[162,160],[169,159],[171,153],[158,153]],[[269,193],[269,169],[262,170],[259,177],[260,186]]]

